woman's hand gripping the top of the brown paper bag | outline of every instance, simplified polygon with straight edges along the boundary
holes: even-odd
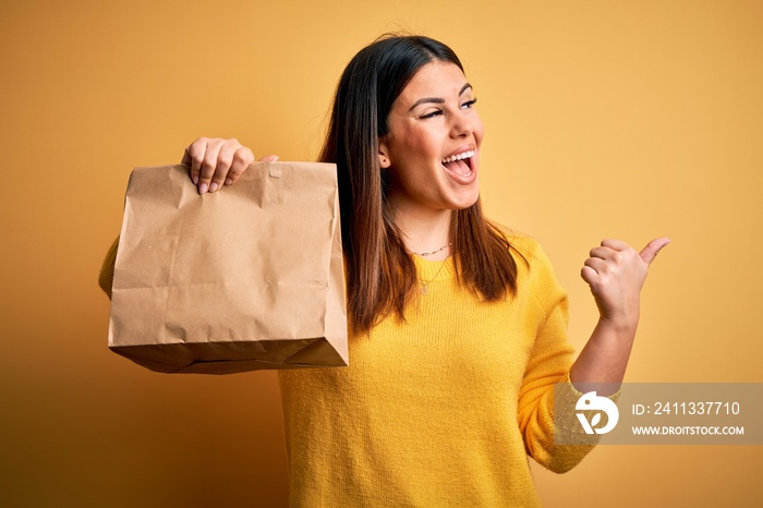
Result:
[[[278,156],[268,155],[259,160],[275,162]],[[235,183],[253,161],[252,150],[237,140],[199,137],[185,148],[181,164],[191,165],[191,180],[198,193],[205,194]]]

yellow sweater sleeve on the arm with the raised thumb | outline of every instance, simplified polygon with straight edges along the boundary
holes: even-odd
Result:
[[[581,440],[576,443],[585,445],[554,444],[555,420],[558,428],[579,434],[574,404],[582,394],[569,382],[574,350],[567,340],[567,293],[545,252],[537,245],[533,251],[528,256],[528,277],[537,303],[537,327],[519,392],[519,425],[528,453],[545,468],[562,473],[591,451],[597,435],[588,436],[581,430]]]

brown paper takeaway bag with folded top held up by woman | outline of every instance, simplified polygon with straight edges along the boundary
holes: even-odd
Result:
[[[198,195],[185,166],[136,168],[109,348],[158,372],[348,363],[336,167],[256,162]]]

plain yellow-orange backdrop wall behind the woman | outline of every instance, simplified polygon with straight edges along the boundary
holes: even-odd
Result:
[[[763,382],[762,26],[729,0],[2,2],[0,505],[284,506],[275,375],[109,352],[97,271],[134,166],[199,135],[314,158],[343,65],[398,28],[464,61],[487,209],[549,252],[577,348],[589,249],[666,234],[627,380]],[[602,446],[534,469],[552,507],[760,506],[761,459]]]

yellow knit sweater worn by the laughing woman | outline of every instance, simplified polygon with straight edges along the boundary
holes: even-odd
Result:
[[[481,301],[451,259],[416,257],[432,282],[404,323],[351,336],[348,367],[279,373],[293,507],[540,506],[526,456],[564,472],[591,449],[553,443],[567,295],[535,241],[510,241],[526,259],[516,295]],[[564,386],[572,428],[580,394]]]

